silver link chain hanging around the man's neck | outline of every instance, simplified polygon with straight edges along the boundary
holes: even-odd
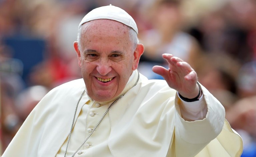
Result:
[[[138,70],[137,70],[138,71]],[[132,86],[132,88],[134,86],[137,85],[138,81],[139,81],[139,78],[140,78],[140,73],[138,71],[138,78],[135,82],[135,84]],[[70,132],[69,132],[69,135],[68,135],[68,142],[67,142],[67,146],[66,146],[66,150],[65,150],[65,154],[64,154],[64,157],[66,157],[66,154],[67,154],[67,150],[68,150],[68,144],[69,144],[69,141],[70,141],[70,137],[71,137],[71,132],[72,132],[72,129],[73,129],[73,125],[74,125],[74,121],[75,121],[75,116],[76,116],[76,111],[77,111],[77,107],[78,107],[78,104],[82,98],[82,96],[84,95],[84,92],[85,90],[83,91],[83,93],[81,94],[80,98],[78,99],[78,102],[76,104],[76,109],[75,109],[75,114],[74,114],[74,117],[73,117],[73,120],[72,120],[72,124],[71,124],[71,129],[70,129]],[[125,93],[124,93],[125,94]],[[102,121],[102,119],[106,116],[106,114],[108,113],[109,109],[119,100],[121,99],[123,96],[121,95],[120,97],[118,97],[109,107],[108,109],[105,111],[105,113],[103,114],[103,116],[100,118],[99,122],[95,125],[95,127],[92,129],[92,131],[90,132],[90,134],[87,136],[87,138],[84,140],[84,142],[77,148],[77,150],[74,152],[74,154],[72,155],[72,157],[75,156],[75,154],[79,151],[79,149],[85,144],[85,142],[88,140],[88,138],[92,135],[92,133],[95,131],[95,129],[98,127],[98,125],[100,124],[100,122]]]

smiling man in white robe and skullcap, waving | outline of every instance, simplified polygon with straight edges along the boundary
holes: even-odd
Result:
[[[118,7],[89,12],[74,42],[83,79],[50,91],[3,157],[240,156],[241,138],[188,63],[164,54],[169,69],[153,71],[165,80],[139,74],[137,34]]]

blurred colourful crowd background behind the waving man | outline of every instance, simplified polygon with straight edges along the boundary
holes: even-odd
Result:
[[[242,136],[242,157],[256,157],[255,0],[0,0],[0,155],[49,90],[81,78],[78,24],[109,4],[137,23],[139,71],[162,79],[151,69],[167,66],[163,53],[190,63]]]

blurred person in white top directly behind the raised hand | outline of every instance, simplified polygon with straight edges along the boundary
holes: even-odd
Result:
[[[141,58],[139,70],[149,78],[159,78],[152,73],[153,65],[167,63],[161,58],[163,53],[170,53],[188,62],[194,67],[200,55],[197,41],[184,29],[183,13],[180,0],[156,0],[151,6],[152,29],[141,35],[145,53]]]

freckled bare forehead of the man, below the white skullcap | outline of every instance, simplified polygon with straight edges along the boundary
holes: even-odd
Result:
[[[83,48],[115,46],[130,49],[132,47],[128,26],[120,22],[100,19],[87,22],[82,27],[80,42]]]

